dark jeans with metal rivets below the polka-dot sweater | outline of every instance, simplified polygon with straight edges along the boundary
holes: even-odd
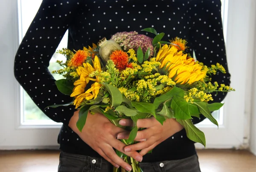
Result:
[[[143,172],[201,172],[198,156],[174,161],[140,163]],[[113,166],[102,158],[61,152],[58,172],[113,172]]]

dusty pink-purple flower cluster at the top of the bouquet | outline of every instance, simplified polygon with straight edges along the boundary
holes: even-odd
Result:
[[[154,48],[152,46],[153,38],[144,34],[138,34],[138,32],[117,32],[110,40],[119,43],[124,50],[134,49],[136,52],[141,47],[143,53],[150,48],[150,56],[153,56]]]

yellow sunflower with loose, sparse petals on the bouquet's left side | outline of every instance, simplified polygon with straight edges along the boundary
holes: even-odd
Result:
[[[99,84],[99,78],[96,77],[92,78],[90,77],[90,74],[95,71],[101,72],[101,66],[100,61],[97,56],[95,56],[95,59],[93,61],[93,66],[90,65],[90,63],[83,63],[83,67],[79,66],[78,69],[76,69],[78,75],[80,76],[79,80],[76,80],[74,82],[74,89],[73,93],[70,95],[70,97],[75,97],[74,105],[76,108],[80,106],[82,101],[85,100],[91,100],[97,97],[99,94],[99,89],[101,87],[101,84]],[[91,85],[90,89],[84,90],[87,84],[91,81],[94,81],[94,83]],[[92,92],[92,93],[91,93]]]

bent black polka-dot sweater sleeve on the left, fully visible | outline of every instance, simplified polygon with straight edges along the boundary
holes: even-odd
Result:
[[[68,126],[76,111],[64,104],[72,98],[63,95],[48,70],[49,61],[79,8],[78,0],[43,0],[15,56],[14,74],[35,104],[55,122]]]

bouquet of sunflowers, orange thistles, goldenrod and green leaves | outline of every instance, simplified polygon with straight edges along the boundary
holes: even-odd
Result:
[[[210,81],[217,70],[225,69],[219,63],[205,66],[186,54],[186,40],[176,37],[166,42],[162,41],[164,33],[157,34],[153,28],[143,31],[155,37],[118,32],[93,47],[58,51],[67,61],[57,61],[64,68],[53,73],[65,79],[55,83],[60,92],[73,97],[67,105],[80,109],[78,129],[82,130],[89,111],[105,115],[116,126],[119,120],[128,118],[134,121],[134,126],[128,140],[121,141],[130,145],[136,143],[138,119],[154,117],[163,124],[166,119],[175,118],[184,126],[189,139],[205,146],[204,133],[191,119],[202,114],[218,126],[211,112],[223,104],[208,103],[213,100],[211,93],[234,89]],[[57,106],[63,105],[52,107]],[[133,172],[142,171],[136,160],[117,150],[116,153],[131,164]]]

